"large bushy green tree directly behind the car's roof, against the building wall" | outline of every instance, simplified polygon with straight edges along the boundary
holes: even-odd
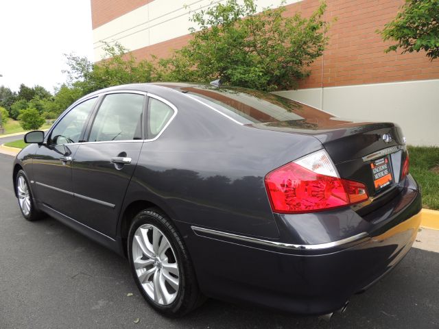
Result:
[[[257,14],[254,0],[226,3],[195,12],[188,45],[161,60],[165,80],[208,82],[276,90],[294,88],[307,66],[322,55],[329,24],[326,4],[302,18],[285,17],[285,6]]]

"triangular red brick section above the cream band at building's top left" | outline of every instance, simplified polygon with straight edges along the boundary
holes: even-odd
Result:
[[[154,0],[91,0],[93,29]]]

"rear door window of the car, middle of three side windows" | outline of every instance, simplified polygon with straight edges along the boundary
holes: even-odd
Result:
[[[106,95],[91,127],[89,142],[142,139],[145,96],[120,93]]]

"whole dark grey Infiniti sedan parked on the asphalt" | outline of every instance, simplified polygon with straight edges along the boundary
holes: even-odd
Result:
[[[170,317],[205,297],[333,313],[401,261],[420,224],[397,125],[257,90],[107,88],[25,141],[23,217],[50,215],[126,256]]]

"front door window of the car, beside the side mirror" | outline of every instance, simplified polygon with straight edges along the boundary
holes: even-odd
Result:
[[[87,99],[72,108],[56,124],[49,138],[49,145],[78,143],[88,115],[93,110],[96,97]]]

